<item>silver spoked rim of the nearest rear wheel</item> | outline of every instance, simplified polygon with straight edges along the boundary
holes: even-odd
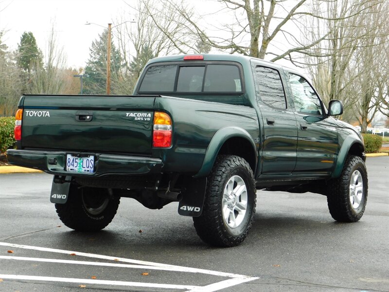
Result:
[[[247,187],[240,176],[233,176],[226,183],[223,193],[222,213],[224,222],[231,228],[238,227],[247,212]]]

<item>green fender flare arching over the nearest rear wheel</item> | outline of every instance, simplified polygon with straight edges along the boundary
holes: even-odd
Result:
[[[255,168],[253,169],[253,171],[255,172],[256,164],[258,163],[258,153],[256,150],[257,148],[255,146],[254,139],[250,136],[248,131],[243,128],[225,127],[219,129],[213,135],[212,140],[207,147],[203,164],[201,165],[201,168],[197,172],[197,174],[195,174],[195,178],[205,177],[210,174],[212,166],[215,163],[217,153],[219,153],[220,148],[230,138],[244,138],[251,144],[252,151],[255,153]]]

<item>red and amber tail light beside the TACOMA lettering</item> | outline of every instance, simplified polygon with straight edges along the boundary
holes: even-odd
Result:
[[[172,145],[172,119],[165,112],[154,112],[153,147],[170,147]]]

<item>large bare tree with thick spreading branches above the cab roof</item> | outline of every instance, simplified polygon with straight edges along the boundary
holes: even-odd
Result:
[[[271,55],[270,60],[273,62],[282,58],[293,60],[292,54],[312,54],[311,48],[328,36],[328,33],[320,32],[310,43],[300,40],[301,19],[318,17],[308,10],[307,5],[316,0],[214,0],[213,2],[219,3],[219,8],[211,13],[212,22],[219,15],[223,15],[226,20],[218,25],[204,21],[204,17],[196,14],[195,9],[185,1],[164,2],[169,4],[169,9],[160,10],[160,15],[184,27],[187,36],[192,37],[191,40],[182,41],[177,38],[180,35],[171,35],[158,20],[153,20],[182,53],[196,51],[195,43],[200,40],[230,54],[239,53],[259,58]],[[282,45],[278,45],[279,43]]]

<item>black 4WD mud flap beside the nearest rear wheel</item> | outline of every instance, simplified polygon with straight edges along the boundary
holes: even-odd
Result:
[[[198,217],[203,211],[207,178],[188,179],[183,183],[182,200],[178,204],[178,214]]]

